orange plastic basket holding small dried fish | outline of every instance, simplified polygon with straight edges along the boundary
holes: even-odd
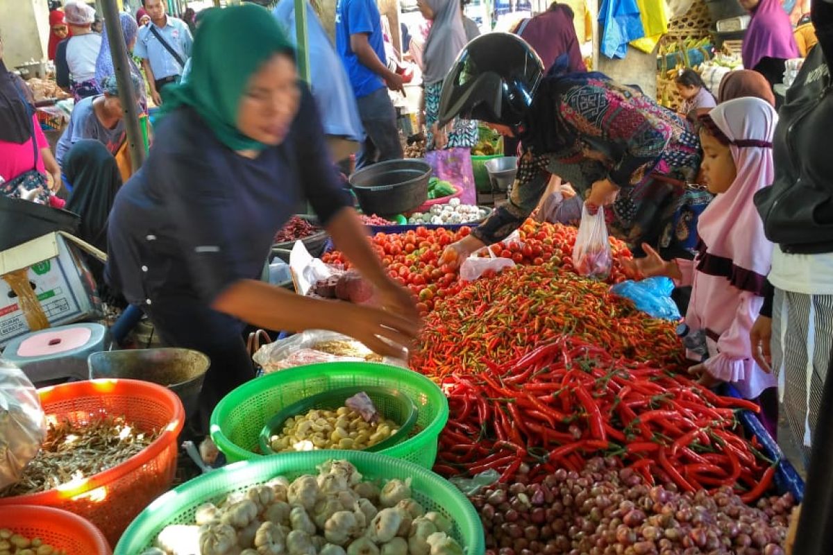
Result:
[[[125,462],[47,492],[0,498],[4,505],[62,508],[87,518],[110,545],[153,499],[167,492],[177,472],[177,436],[185,424],[182,402],[162,385],[137,379],[93,379],[38,389],[47,419],[86,424],[93,415],[123,416],[137,429],[162,435]],[[0,519],[2,523],[2,519]]]

